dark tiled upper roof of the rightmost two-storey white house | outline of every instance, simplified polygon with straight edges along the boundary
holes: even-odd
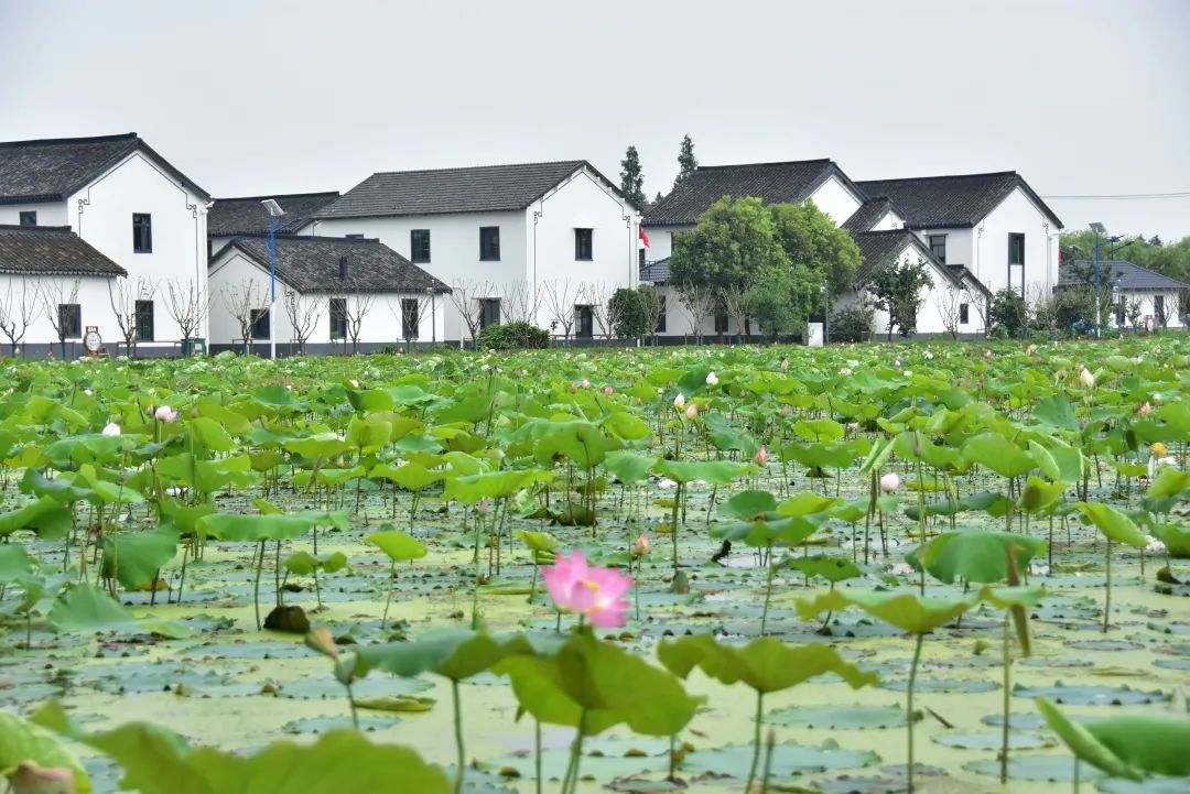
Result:
[[[1061,221],[1016,171],[857,182],[869,196],[891,198],[910,228],[975,226],[1021,188],[1060,228]]]

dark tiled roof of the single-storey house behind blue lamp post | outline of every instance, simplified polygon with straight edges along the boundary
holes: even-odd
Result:
[[[268,270],[265,237],[232,238],[212,257],[223,258],[238,248]],[[339,278],[339,261],[347,258],[347,278]],[[311,237],[277,238],[277,278],[299,292],[450,292],[450,288],[380,240],[364,238]]]

